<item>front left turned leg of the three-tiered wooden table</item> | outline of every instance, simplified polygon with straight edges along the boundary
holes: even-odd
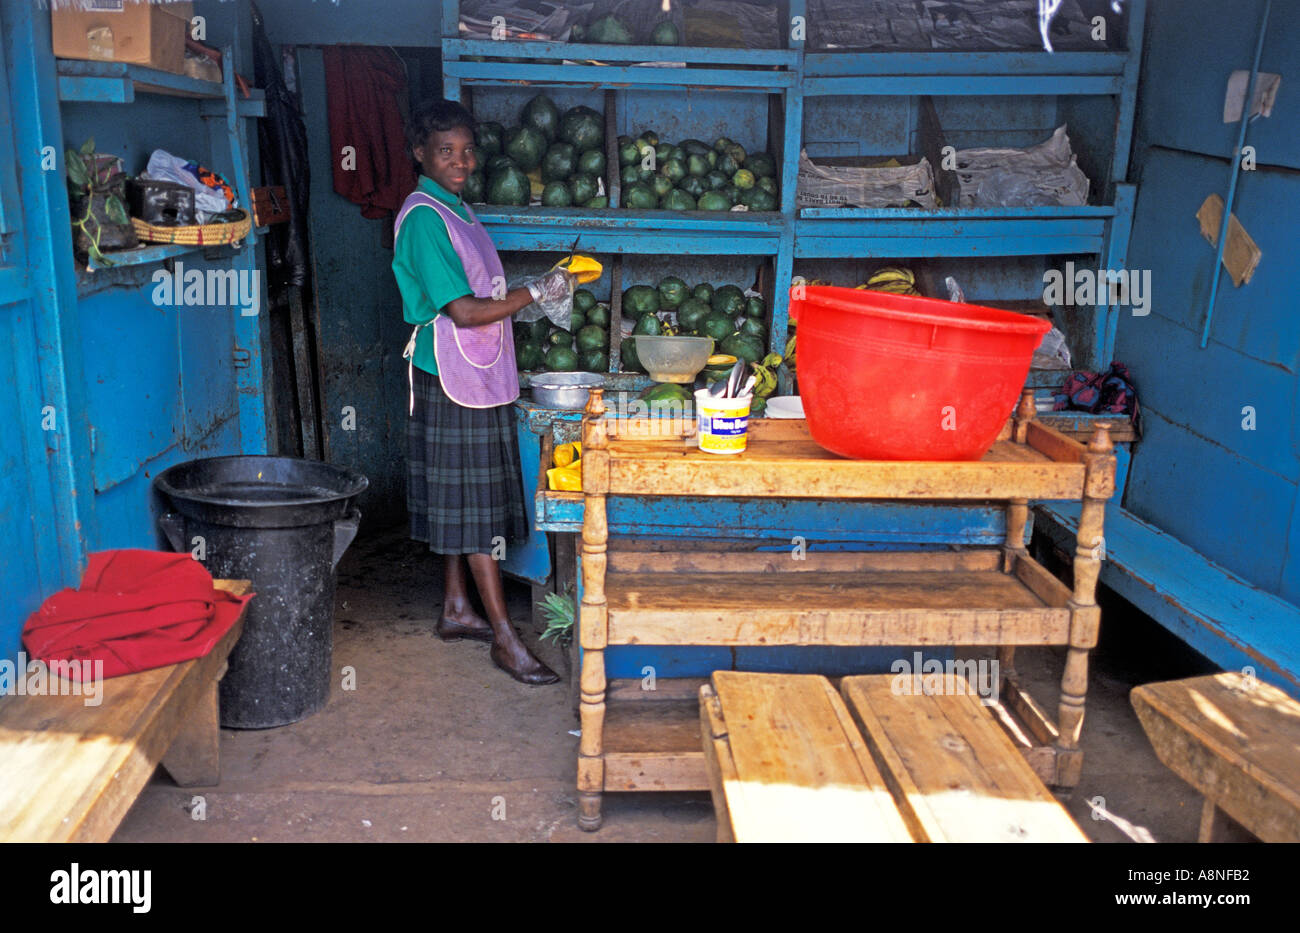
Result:
[[[601,828],[601,794],[604,790],[604,646],[608,616],[604,602],[604,567],[608,525],[604,496],[610,485],[610,455],[606,450],[603,391],[592,390],[582,422],[582,606],[578,638],[582,646],[581,720],[582,738],[577,758],[577,825],[586,832]]]

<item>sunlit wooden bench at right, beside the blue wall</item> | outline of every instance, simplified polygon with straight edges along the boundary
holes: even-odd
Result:
[[[1300,703],[1225,672],[1130,694],[1156,756],[1205,795],[1201,842],[1223,813],[1265,842],[1300,842]]]

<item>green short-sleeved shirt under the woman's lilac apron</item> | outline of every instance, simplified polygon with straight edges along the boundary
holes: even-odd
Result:
[[[456,217],[469,221],[464,201],[428,175],[420,175],[417,190],[452,209]],[[473,295],[465,266],[451,246],[447,225],[433,208],[415,208],[402,221],[393,246],[393,275],[402,292],[402,316],[407,324],[428,324],[445,313],[451,301]],[[433,355],[433,327],[420,327],[412,363],[426,373],[438,374]]]

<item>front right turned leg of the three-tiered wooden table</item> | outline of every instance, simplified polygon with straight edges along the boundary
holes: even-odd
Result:
[[[1101,609],[1097,606],[1097,577],[1105,552],[1102,530],[1106,500],[1115,487],[1114,446],[1110,425],[1098,424],[1088,442],[1083,505],[1074,555],[1074,599],[1070,600],[1070,645],[1061,677],[1058,711],[1057,784],[1074,787],[1083,772],[1079,734],[1083,730],[1084,699],[1088,694],[1088,652],[1097,645]]]

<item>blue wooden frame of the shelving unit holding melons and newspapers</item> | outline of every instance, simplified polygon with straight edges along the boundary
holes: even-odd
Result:
[[[780,161],[780,211],[727,214],[660,211],[484,208],[480,217],[504,249],[568,249],[575,236],[594,252],[770,256],[774,290],[771,346],[784,346],[796,260],[863,257],[1089,256],[1097,268],[1124,265],[1135,191],[1124,183],[1141,57],[1145,0],[1127,5],[1122,49],[1098,52],[822,52],[783,30],[785,48],[731,49],[486,40],[459,38],[459,0],[442,3],[443,83],[460,100],[474,87],[763,92],[779,101],[768,151]],[[807,16],[789,0],[789,17]],[[472,60],[486,58],[486,60]],[[510,58],[510,61],[502,61]],[[568,61],[569,64],[564,64]],[[577,62],[607,64],[577,64]],[[632,64],[645,62],[645,64]],[[667,62],[676,68],[664,66]],[[685,64],[686,66],[681,66]],[[1092,173],[1096,204],[1078,208],[852,209],[796,208],[806,101],[824,96],[1109,97],[1114,121]],[[614,100],[607,94],[607,103]],[[607,123],[612,126],[607,114]],[[780,134],[780,139],[776,135]],[[616,172],[611,205],[618,204]],[[1028,298],[1028,296],[1027,296]],[[1100,304],[1092,343],[1075,355],[1110,359],[1118,309]]]

